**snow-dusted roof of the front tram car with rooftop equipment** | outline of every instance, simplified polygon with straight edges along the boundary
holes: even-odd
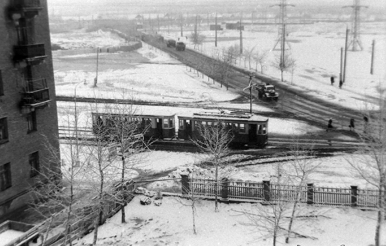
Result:
[[[190,115],[178,115],[178,118],[193,118],[193,119],[207,119],[207,120],[234,120],[234,121],[268,121],[268,118],[257,116],[249,113],[240,113],[234,111],[222,112],[201,112]]]

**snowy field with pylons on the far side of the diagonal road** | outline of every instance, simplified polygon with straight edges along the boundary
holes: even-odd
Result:
[[[200,51],[212,56],[222,54],[230,46],[239,44],[240,33],[237,30],[217,31],[217,47],[214,46],[215,32],[208,31],[208,27],[198,28],[201,35],[206,39],[199,47]],[[296,60],[296,68],[293,75],[292,86],[326,101],[337,103],[354,109],[363,108],[365,103],[375,103],[379,97],[377,88],[385,87],[386,74],[386,23],[373,22],[362,23],[361,40],[363,51],[347,53],[346,82],[342,89],[339,85],[340,71],[340,48],[344,47],[346,25],[344,23],[315,22],[311,25],[288,25],[288,36],[286,37],[291,49],[287,52]],[[185,30],[189,37],[193,29]],[[163,29],[160,34],[166,38],[176,38],[179,29],[173,29],[169,34]],[[245,25],[243,31],[244,54],[252,51],[267,52],[263,62],[263,73],[280,79],[280,71],[274,67],[274,62],[280,54],[279,50],[273,50],[278,36],[277,25]],[[371,42],[376,40],[374,56],[374,74],[370,74],[371,64]],[[193,49],[193,44],[188,41],[188,47]],[[280,49],[280,44],[278,46]],[[242,57],[237,65],[256,70],[256,61]],[[260,65],[257,65],[260,71]],[[334,86],[330,85],[330,77],[335,76]],[[291,72],[284,72],[284,80],[291,84]]]

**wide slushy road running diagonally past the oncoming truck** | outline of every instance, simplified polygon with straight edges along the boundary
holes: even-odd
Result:
[[[146,42],[149,45],[163,50],[164,52],[168,52],[179,61],[198,70],[200,73],[213,78],[213,69],[210,66],[210,60],[212,58],[204,56],[203,54],[188,48],[186,48],[185,51],[176,51],[173,47],[166,47],[166,43],[154,42],[150,39],[146,39]],[[241,94],[249,96],[249,91],[247,91],[247,93],[242,91],[242,89],[247,87],[249,84],[249,77],[247,76],[249,73],[250,71],[247,71],[247,69],[241,69],[234,66],[230,67],[229,86],[240,89]],[[215,79],[218,81],[220,80],[220,78]],[[354,118],[356,120],[356,126],[360,126],[363,121],[363,113],[359,110],[345,108],[328,101],[312,97],[304,92],[296,91],[296,89],[290,89],[288,86],[276,79],[261,76],[261,74],[256,73],[256,77],[252,81],[254,84],[265,84],[267,82],[276,86],[276,90],[280,94],[278,102],[258,99],[257,91],[252,90],[253,103],[271,108],[284,118],[296,118],[298,120],[311,123],[312,125],[322,127],[327,127],[328,119],[332,118],[333,125],[338,127],[338,129],[343,129],[344,131],[349,130],[348,125],[350,118]],[[374,100],[374,98],[369,99]],[[255,113],[259,114],[259,112]]]

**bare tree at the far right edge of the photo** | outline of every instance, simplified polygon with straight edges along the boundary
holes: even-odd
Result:
[[[374,204],[377,208],[375,229],[375,246],[381,245],[381,231],[386,207],[386,93],[379,88],[379,110],[376,113],[366,112],[368,122],[364,131],[357,131],[362,142],[357,155],[347,158],[357,174],[368,184],[376,188],[378,199]],[[370,116],[371,115],[371,116]]]

